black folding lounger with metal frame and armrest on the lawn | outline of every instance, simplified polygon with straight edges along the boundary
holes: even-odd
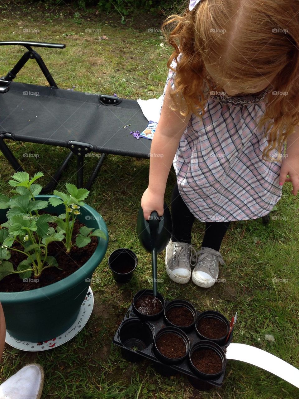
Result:
[[[83,187],[86,154],[101,153],[85,185],[88,189],[106,154],[149,158],[151,140],[137,140],[129,134],[131,131],[144,130],[148,124],[136,100],[59,89],[41,56],[32,49],[63,49],[65,44],[0,41],[0,45],[22,45],[27,49],[6,76],[0,78],[0,150],[8,162],[16,172],[23,170],[4,139],[49,144],[70,150],[43,189],[44,194],[56,187],[73,154],[77,156],[79,188]],[[29,59],[37,61],[49,86],[13,81]],[[123,127],[126,125],[130,125],[128,129]]]

